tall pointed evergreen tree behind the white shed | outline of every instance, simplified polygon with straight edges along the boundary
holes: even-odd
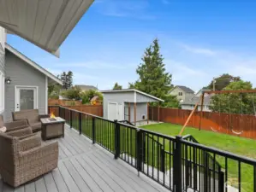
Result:
[[[154,39],[153,43],[146,48],[141,60],[142,62],[136,70],[139,79],[134,83],[134,88],[163,99],[165,102],[161,104],[164,107],[178,107],[179,102],[176,96],[169,95],[172,76],[165,70],[164,57],[160,54],[158,38]],[[133,87],[133,84],[130,84],[130,87]]]

